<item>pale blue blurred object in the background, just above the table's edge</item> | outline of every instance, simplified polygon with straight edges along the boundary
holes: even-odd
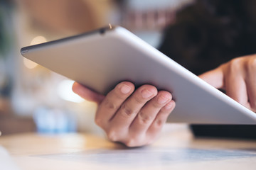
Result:
[[[60,134],[75,132],[77,129],[75,115],[70,111],[41,106],[33,114],[37,131],[42,134]]]

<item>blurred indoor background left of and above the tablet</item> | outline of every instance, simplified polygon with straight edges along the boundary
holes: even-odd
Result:
[[[73,81],[20,55],[21,47],[109,23],[158,47],[176,12],[193,0],[1,0],[0,131],[95,132],[96,105],[73,94]]]

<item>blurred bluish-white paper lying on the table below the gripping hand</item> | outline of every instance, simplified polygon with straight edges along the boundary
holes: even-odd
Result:
[[[35,156],[35,155],[34,155]],[[84,164],[101,164],[101,166],[117,166],[119,168],[151,168],[161,165],[191,164],[197,162],[219,162],[230,159],[256,157],[255,151],[233,149],[193,149],[142,147],[135,149],[91,149],[85,152],[67,154],[36,155],[48,159],[62,159],[65,162]]]

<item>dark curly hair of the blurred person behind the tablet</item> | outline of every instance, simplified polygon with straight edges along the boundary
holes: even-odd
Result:
[[[255,6],[254,0],[198,0],[178,11],[159,50],[195,74],[256,53]]]

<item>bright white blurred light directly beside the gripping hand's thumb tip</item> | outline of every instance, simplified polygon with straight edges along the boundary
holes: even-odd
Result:
[[[65,101],[72,101],[75,103],[81,103],[82,101],[85,101],[83,98],[72,91],[73,83],[74,81],[72,80],[60,81],[60,84],[58,85],[58,95]]]

